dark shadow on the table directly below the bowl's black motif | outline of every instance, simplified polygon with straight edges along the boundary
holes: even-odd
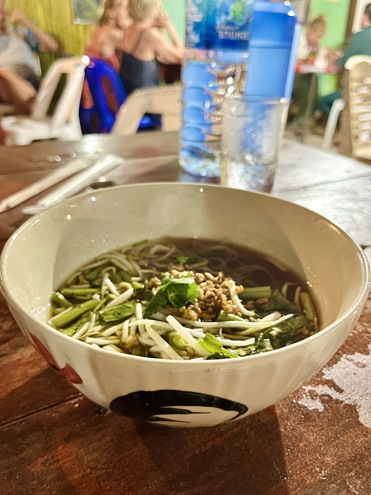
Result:
[[[153,474],[163,480],[163,494],[288,495],[274,406],[212,428],[172,429],[139,420],[134,426],[156,466]]]

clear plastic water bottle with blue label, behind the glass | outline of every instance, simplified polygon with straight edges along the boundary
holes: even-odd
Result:
[[[220,175],[221,105],[243,92],[252,0],[187,0],[179,162],[192,175]]]

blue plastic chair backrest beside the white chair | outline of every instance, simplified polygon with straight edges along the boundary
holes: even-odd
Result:
[[[99,120],[98,132],[110,132],[118,109],[127,98],[121,78],[108,62],[93,57],[85,69],[85,77]]]

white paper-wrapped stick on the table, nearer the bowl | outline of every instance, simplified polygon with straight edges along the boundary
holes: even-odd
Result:
[[[101,157],[96,163],[94,163],[88,170],[85,170],[71,179],[63,182],[59,187],[54,189],[51,193],[47,194],[34,205],[26,206],[22,212],[27,214],[35,214],[45,209],[47,206],[51,206],[62,199],[70,198],[75,194],[88,187],[92,181],[98,179],[102,174],[109,172],[118,165],[122,165],[125,162],[124,158],[113,154],[107,154]]]

